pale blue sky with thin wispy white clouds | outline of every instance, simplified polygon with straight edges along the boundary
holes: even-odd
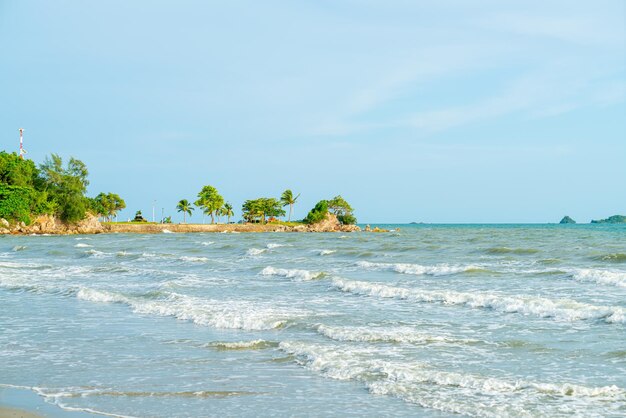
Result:
[[[0,147],[151,220],[215,186],[359,222],[626,215],[626,2],[0,0]],[[197,210],[191,221],[201,222]]]

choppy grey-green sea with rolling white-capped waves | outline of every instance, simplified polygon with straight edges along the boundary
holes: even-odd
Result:
[[[626,226],[378,226],[3,236],[3,399],[59,417],[626,416]]]

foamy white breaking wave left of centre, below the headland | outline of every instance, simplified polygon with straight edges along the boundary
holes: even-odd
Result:
[[[296,309],[277,308],[247,301],[201,299],[168,292],[154,299],[81,288],[76,296],[92,302],[122,303],[139,314],[171,316],[198,325],[226,329],[277,329],[306,315],[305,312]]]

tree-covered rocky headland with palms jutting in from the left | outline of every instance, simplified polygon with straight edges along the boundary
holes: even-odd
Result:
[[[0,152],[0,235],[99,234],[99,233],[172,233],[172,232],[353,232],[356,225],[352,206],[341,196],[320,200],[302,220],[292,221],[298,197],[287,189],[280,198],[259,197],[246,200],[242,220],[230,221],[233,206],[217,189],[205,185],[198,199],[182,199],[176,210],[183,223],[172,224],[171,217],[148,222],[141,210],[128,222],[114,222],[126,202],[115,193],[86,196],[88,171],[75,158],[66,164],[52,154],[36,165],[17,153]],[[289,217],[283,208],[289,207]],[[187,224],[195,209],[202,213],[202,224]],[[210,224],[205,225],[205,217]],[[220,217],[226,223],[220,223]],[[283,217],[283,219],[281,219]]]

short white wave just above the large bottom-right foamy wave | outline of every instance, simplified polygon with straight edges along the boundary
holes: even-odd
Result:
[[[429,335],[411,327],[377,329],[372,327],[332,327],[318,325],[317,332],[335,341],[385,342],[410,344],[473,344],[478,340],[453,338],[445,335]]]

